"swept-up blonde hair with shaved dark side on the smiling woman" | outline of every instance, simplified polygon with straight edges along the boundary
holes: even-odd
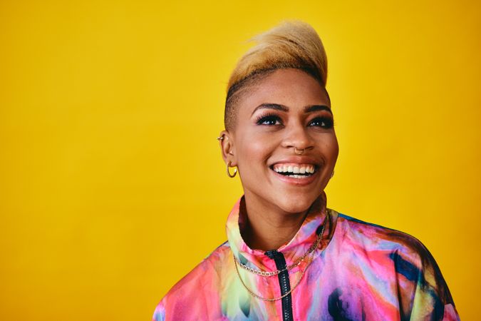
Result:
[[[314,28],[303,21],[284,21],[249,41],[257,45],[239,59],[227,84],[224,126],[234,128],[236,105],[243,93],[280,68],[297,68],[309,73],[325,88],[326,51]]]

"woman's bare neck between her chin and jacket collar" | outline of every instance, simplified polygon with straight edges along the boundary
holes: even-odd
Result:
[[[245,195],[245,204],[241,204],[239,210],[245,213],[246,218],[241,230],[244,242],[249,248],[263,251],[276,250],[294,238],[309,214],[309,209],[300,213],[286,213],[279,209],[264,208],[248,195]]]

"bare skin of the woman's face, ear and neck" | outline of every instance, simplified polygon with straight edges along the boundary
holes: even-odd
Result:
[[[310,106],[317,107],[306,110]],[[219,142],[222,158],[237,166],[244,188],[242,238],[252,249],[277,249],[294,237],[309,207],[320,205],[336,165],[331,103],[312,76],[286,68],[250,88],[238,108],[234,128],[221,131]],[[304,153],[296,155],[294,147]],[[287,178],[271,169],[279,163],[314,164],[316,172],[307,179]]]

